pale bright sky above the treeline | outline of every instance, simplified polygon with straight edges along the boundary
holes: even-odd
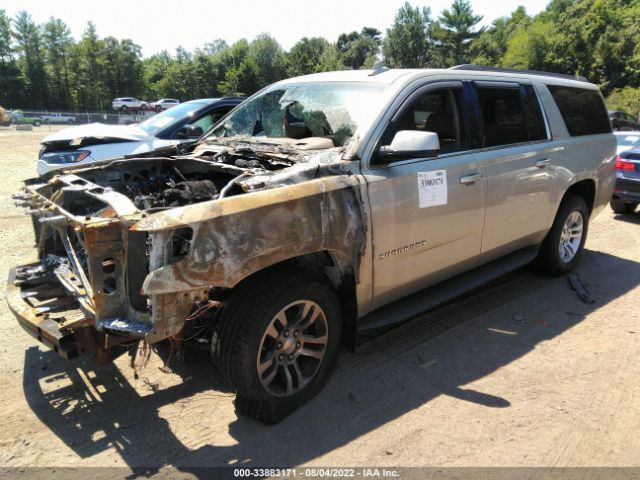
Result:
[[[202,47],[216,38],[229,44],[259,33],[269,33],[289,50],[302,37],[324,37],[335,41],[341,33],[375,27],[385,32],[393,23],[404,0],[0,0],[0,9],[10,17],[26,10],[37,23],[54,16],[62,19],[78,39],[87,22],[95,23],[98,35],[131,38],[142,47],[144,56],[162,50],[173,53],[178,46],[187,50]],[[530,15],[543,10],[549,0],[528,0]],[[429,6],[437,18],[451,0],[411,1]],[[483,15],[482,25],[509,15],[518,3],[500,0],[472,0],[473,9]],[[525,2],[522,2],[525,3]]]

